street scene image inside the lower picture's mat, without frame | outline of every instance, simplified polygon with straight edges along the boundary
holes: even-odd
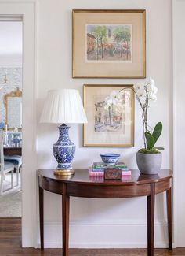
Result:
[[[107,106],[108,95],[93,95],[94,132],[125,132],[125,116],[122,107]],[[124,106],[124,102],[120,105]]]

